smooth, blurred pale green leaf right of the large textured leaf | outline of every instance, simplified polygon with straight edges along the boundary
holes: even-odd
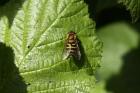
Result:
[[[108,24],[97,31],[104,47],[101,68],[98,71],[99,82],[94,91],[112,93],[106,89],[108,80],[114,75],[120,75],[124,64],[123,56],[138,47],[139,36],[135,29],[125,22]]]

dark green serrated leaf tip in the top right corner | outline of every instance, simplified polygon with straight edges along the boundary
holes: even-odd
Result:
[[[140,1],[139,0],[118,0],[130,11],[132,16],[132,21],[136,22],[140,17]]]

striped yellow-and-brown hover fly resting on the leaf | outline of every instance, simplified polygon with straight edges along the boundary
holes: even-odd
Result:
[[[67,34],[67,39],[65,41],[63,60],[74,57],[76,60],[81,59],[81,53],[78,46],[78,39],[76,33],[71,31]]]

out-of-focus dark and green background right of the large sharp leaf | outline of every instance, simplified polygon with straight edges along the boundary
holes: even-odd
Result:
[[[140,93],[140,19],[133,22],[131,12],[117,0],[85,2],[104,44],[94,92]]]

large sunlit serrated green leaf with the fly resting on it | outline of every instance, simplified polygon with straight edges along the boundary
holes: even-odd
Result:
[[[11,11],[4,7],[3,12]],[[84,0],[26,0],[11,27],[8,20],[1,17],[0,41],[14,50],[15,64],[28,93],[89,93],[94,88],[102,43]],[[81,42],[79,63],[72,58],[62,60],[69,31],[76,32]],[[14,82],[12,86],[20,87],[14,93],[24,93],[23,86]]]

